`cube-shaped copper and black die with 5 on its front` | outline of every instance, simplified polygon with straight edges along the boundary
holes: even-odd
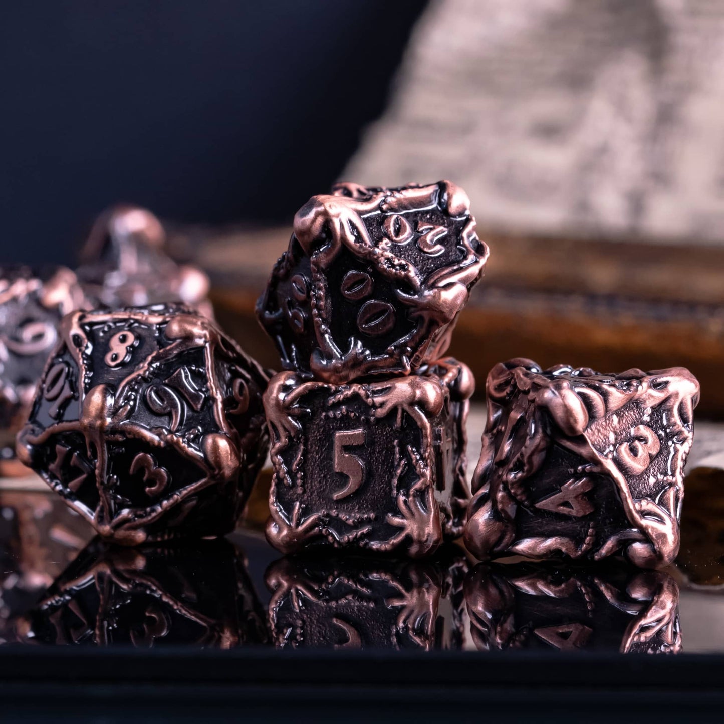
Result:
[[[266,534],[282,552],[332,546],[414,557],[460,535],[470,370],[439,361],[384,382],[271,378],[274,478]]]

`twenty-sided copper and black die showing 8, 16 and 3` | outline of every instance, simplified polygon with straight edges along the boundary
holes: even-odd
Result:
[[[183,306],[61,324],[18,455],[106,538],[232,530],[264,462],[264,371]]]

